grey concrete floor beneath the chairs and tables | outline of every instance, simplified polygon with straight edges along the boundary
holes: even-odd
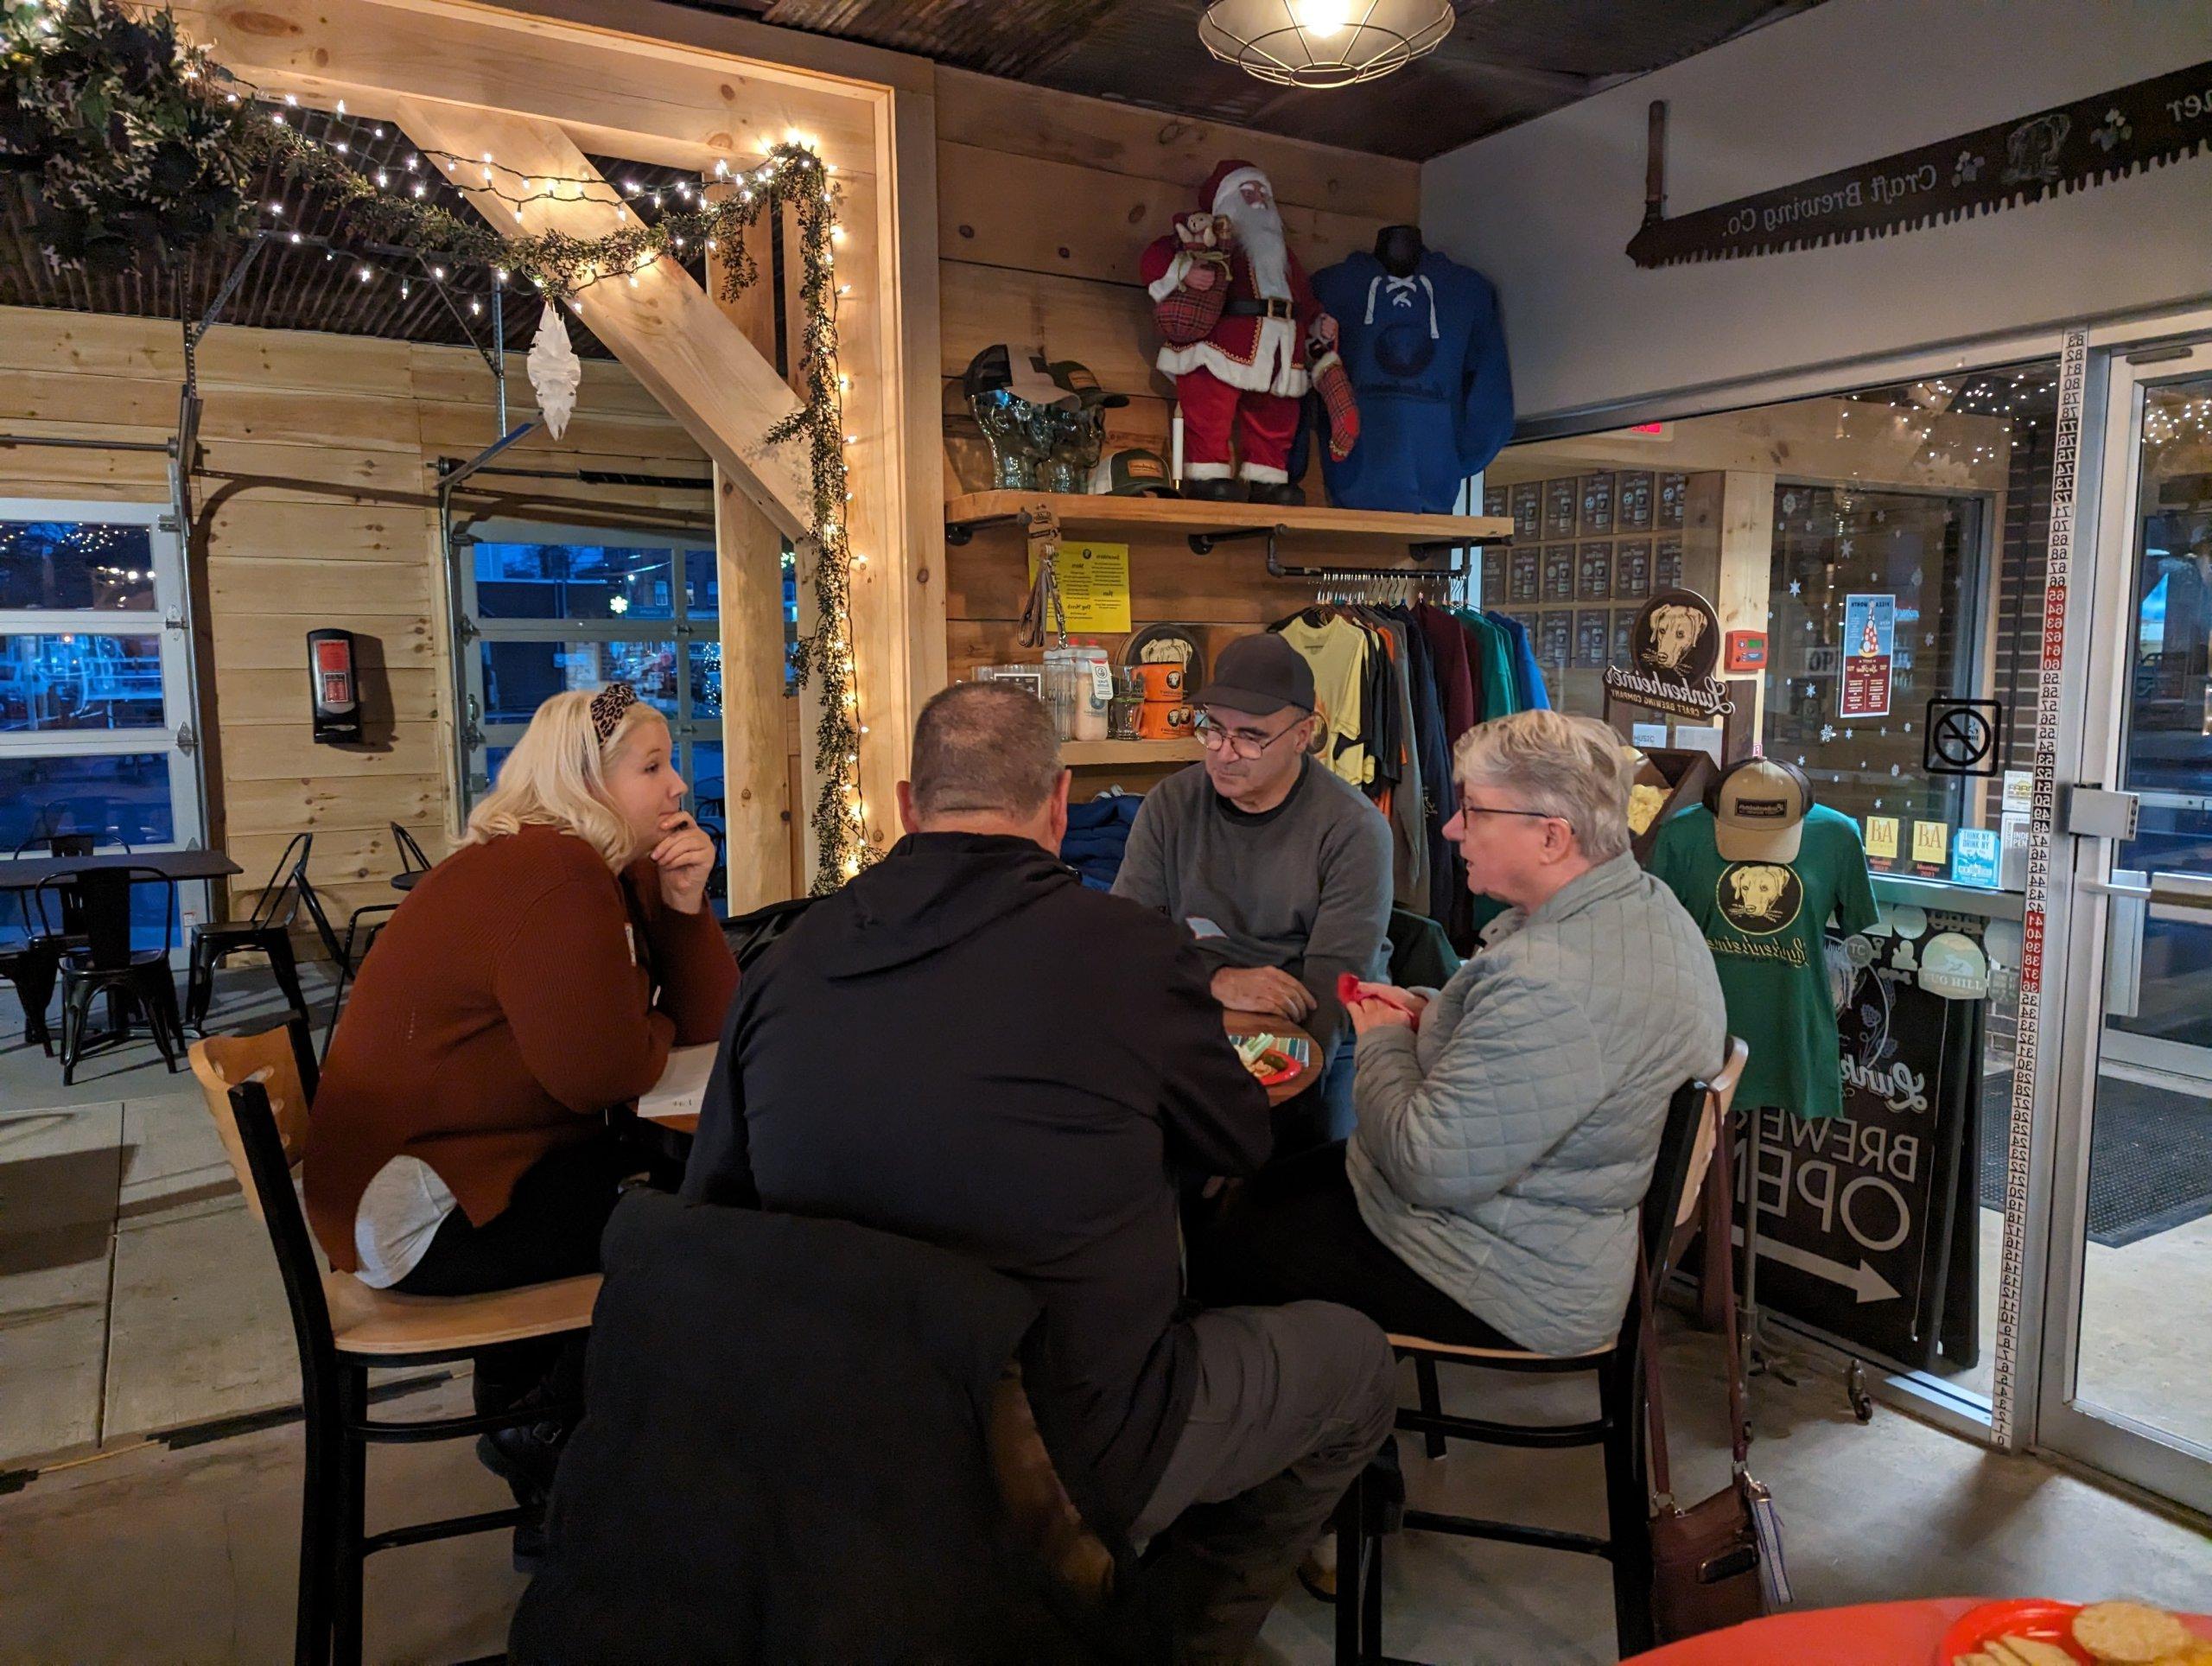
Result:
[[[272,1022],[276,1002],[263,987],[250,976],[226,987],[219,1020]],[[0,1049],[11,1042],[20,1038],[0,1038]],[[2148,1241],[2181,1263],[2166,1263],[2146,1290],[2201,1303],[2212,1237],[2183,1235]],[[2104,1308],[2126,1314],[2128,1299]],[[2154,1343],[2174,1330],[2143,1334]],[[2168,1361],[2157,1365],[2161,1394],[2188,1389],[2172,1361],[2199,1392],[2212,1381],[2201,1365],[2208,1336],[2203,1323],[2183,1332],[2197,1363],[2152,1350]],[[1725,1478],[1717,1352],[1694,1334],[1670,1334],[1663,1352],[1679,1489],[1694,1498]],[[2112,1358],[2101,1354],[2099,1370]],[[1467,1409],[1573,1416],[1582,1407],[1579,1387],[1566,1383],[1478,1372],[1444,1381],[1447,1398]],[[294,1398],[268,1241],[230,1186],[190,1077],[166,1075],[142,1044],[91,1064],[64,1091],[35,1049],[0,1051],[0,1662],[281,1659],[299,1427],[208,1436],[223,1418]],[[462,1401],[465,1381],[438,1378],[392,1409],[431,1416]],[[1754,1420],[1754,1471],[1781,1502],[1803,1604],[2135,1593],[2212,1608],[2212,1540],[2201,1522],[2166,1520],[1887,1409],[1858,1427],[1829,1376],[1801,1387],[1761,1381]],[[177,1429],[186,1434],[146,1438]],[[1595,1454],[1458,1449],[1440,1465],[1409,1454],[1407,1474],[1416,1498],[1444,1509],[1601,1527]],[[372,1522],[500,1500],[467,1443],[372,1458]],[[495,1653],[520,1589],[504,1540],[376,1558],[369,1657]],[[1387,1644],[1400,1655],[1613,1659],[1606,1571],[1595,1562],[1407,1535],[1389,1549],[1387,1593]],[[1265,1644],[1270,1662],[1327,1659],[1329,1611],[1292,1593]]]

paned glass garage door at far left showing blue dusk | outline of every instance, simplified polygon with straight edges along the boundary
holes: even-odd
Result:
[[[161,522],[155,504],[0,500],[0,858],[64,832],[204,839],[184,562]],[[177,887],[179,954],[206,892]],[[161,945],[159,903],[133,889],[135,947]]]

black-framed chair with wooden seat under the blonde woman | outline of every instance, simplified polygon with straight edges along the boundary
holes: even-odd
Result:
[[[599,1277],[495,1290],[480,1297],[407,1297],[332,1272],[299,1206],[292,1168],[307,1144],[316,1082],[305,1020],[259,1035],[210,1035],[192,1044],[208,1115],[223,1139],[246,1206],[268,1228],[292,1308],[307,1474],[299,1520],[299,1620],[294,1659],[314,1666],[361,1659],[361,1573],[376,1551],[518,1527],[522,1509],[493,1509],[365,1531],[367,1449],[376,1443],[465,1440],[542,1416],[389,1423],[369,1418],[369,1367],[460,1361],[484,1347],[562,1336],[591,1325]]]

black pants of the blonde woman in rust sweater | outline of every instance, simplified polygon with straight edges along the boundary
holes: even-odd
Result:
[[[445,1217],[422,1259],[394,1290],[411,1297],[473,1297],[599,1270],[599,1235],[622,1181],[644,1159],[611,1133],[549,1150],[515,1181],[498,1215],[473,1226],[462,1210]],[[584,1334],[502,1343],[476,1356],[476,1409],[504,1412],[531,1389],[544,1392],[553,1420],[584,1412]]]

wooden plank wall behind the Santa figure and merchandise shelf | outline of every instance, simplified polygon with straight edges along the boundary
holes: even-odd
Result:
[[[1409,162],[938,71],[947,496],[991,485],[960,372],[993,341],[1082,361],[1104,387],[1130,396],[1126,409],[1108,412],[1108,442],[1168,454],[1172,385],[1152,367],[1159,336],[1137,259],[1175,215],[1199,206],[1199,186],[1225,157],[1267,170],[1307,270],[1371,248],[1380,226],[1420,217],[1420,170]],[[1318,480],[1312,489],[1321,502]],[[1022,540],[1006,531],[947,551],[951,677],[1035,657],[1015,648],[1024,573]],[[1267,580],[1256,544],[1199,558],[1179,535],[1130,538],[1130,584],[1137,628],[1199,626],[1208,653],[1312,600],[1310,589]],[[1102,642],[1119,657],[1126,637]],[[1086,772],[1077,792],[1088,796],[1091,781]]]

